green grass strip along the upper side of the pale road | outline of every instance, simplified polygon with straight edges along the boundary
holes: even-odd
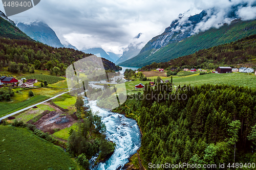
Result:
[[[23,108],[33,105],[35,103],[44,101],[46,99],[48,99],[48,96],[35,95],[32,98],[30,98],[24,102],[18,102],[18,103],[0,102],[0,108],[1,108],[0,117],[3,117],[5,115],[15,112],[17,110],[23,109]]]

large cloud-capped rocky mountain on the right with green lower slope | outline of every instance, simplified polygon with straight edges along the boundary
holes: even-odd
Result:
[[[192,54],[195,50],[231,42],[231,39],[251,35],[255,29],[254,22],[252,22],[252,19],[256,18],[255,5],[255,3],[230,2],[230,4],[219,6],[219,8],[214,7],[202,10],[201,13],[193,16],[189,14],[189,11],[179,14],[177,19],[172,21],[161,35],[148,41],[136,57],[119,64],[123,66],[144,66],[153,62],[165,62],[183,55]],[[238,26],[240,23],[245,24],[246,20],[250,20],[249,22],[251,23],[243,27]],[[232,28],[234,25],[236,25],[236,28]],[[248,26],[250,26],[250,32],[242,34],[241,31],[246,32],[244,29],[248,29]],[[214,34],[209,32],[214,29],[222,31],[215,31]],[[196,38],[200,34],[205,34],[205,36],[201,35],[201,39]],[[237,34],[239,35],[237,36]],[[213,37],[214,39],[212,39]],[[183,42],[184,40],[189,41],[189,39],[196,41]]]

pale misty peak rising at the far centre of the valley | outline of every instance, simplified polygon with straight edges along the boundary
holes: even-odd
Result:
[[[135,36],[128,47],[124,48],[122,56],[116,61],[116,64],[129,60],[137,56],[142,48],[142,41],[139,39],[142,33]]]

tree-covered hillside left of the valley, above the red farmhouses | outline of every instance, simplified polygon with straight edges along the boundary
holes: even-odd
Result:
[[[59,67],[63,73],[75,61],[92,54],[86,54],[72,48],[54,48],[39,42],[29,40],[0,39],[0,61],[2,67],[9,62],[34,65],[35,69],[52,69]],[[102,58],[106,70],[118,70],[109,60]]]

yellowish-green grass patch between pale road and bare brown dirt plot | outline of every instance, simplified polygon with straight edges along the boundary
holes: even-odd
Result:
[[[45,110],[55,111],[55,109],[48,105],[37,105],[36,107],[37,108],[30,108],[29,110],[26,110],[18,115],[15,115],[16,119],[22,120],[24,123],[26,123],[30,119],[44,112]]]

